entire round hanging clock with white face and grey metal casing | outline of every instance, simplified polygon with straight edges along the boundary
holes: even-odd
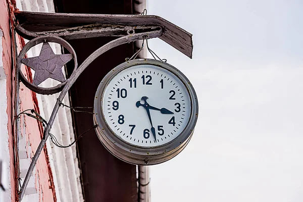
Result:
[[[159,164],[179,154],[197,116],[189,80],[158,60],[117,66],[99,84],[94,99],[98,138],[114,156],[137,165]]]

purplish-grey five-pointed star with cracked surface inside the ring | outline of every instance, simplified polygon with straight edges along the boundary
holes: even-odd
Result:
[[[56,55],[48,42],[43,42],[40,55],[22,59],[22,63],[35,71],[33,85],[38,86],[47,78],[65,82],[62,67],[72,60],[72,54]]]

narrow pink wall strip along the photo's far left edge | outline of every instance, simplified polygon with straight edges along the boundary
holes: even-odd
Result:
[[[15,171],[12,135],[12,47],[9,11],[6,0],[0,0],[0,161],[6,162],[8,189],[0,190],[0,199],[15,201]]]

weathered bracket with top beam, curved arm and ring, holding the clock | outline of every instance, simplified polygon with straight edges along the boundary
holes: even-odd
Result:
[[[53,94],[61,91],[57,103],[54,106],[52,115],[47,122],[43,138],[37,147],[35,155],[32,158],[31,164],[22,184],[22,188],[19,193],[19,200],[21,201],[24,196],[30,176],[32,175],[34,167],[37,163],[38,157],[40,156],[41,151],[49,136],[49,132],[51,131],[52,125],[64,96],[67,94],[68,90],[74,84],[76,79],[91,62],[93,62],[97,57],[113,47],[143,38],[149,39],[159,37],[189,58],[192,57],[193,45],[191,38],[192,35],[190,33],[158,16],[16,12],[15,17],[15,27],[17,33],[26,39],[32,39],[23,47],[17,58],[17,69],[19,70],[21,81],[29,89],[40,94]],[[120,38],[110,41],[104,46],[98,48],[78,67],[76,54],[66,39],[100,36],[120,36]],[[60,55],[52,56],[52,58],[45,57],[45,54],[43,55],[42,53],[35,59],[32,58],[30,60],[24,60],[26,52],[34,45],[42,42],[45,46],[42,51],[46,50],[46,52],[48,48],[46,43],[48,42],[56,42],[63,45],[70,52],[75,64],[74,71],[70,78],[58,86],[51,88],[38,87],[37,81],[36,83],[30,83],[25,79],[20,68],[21,63],[33,64],[35,61],[40,61],[41,67],[39,67],[39,70],[44,68],[43,70],[48,71],[48,75],[54,71],[54,68],[58,69],[58,62],[52,62],[52,60],[54,57],[60,58]],[[45,67],[45,63],[43,62],[52,63],[51,65],[53,65],[53,67]],[[35,66],[34,68],[37,67],[38,66]],[[57,76],[58,75],[59,74],[57,74]],[[56,75],[53,75],[53,77],[50,78],[54,77],[55,79],[58,78]],[[43,79],[45,78],[43,77]],[[63,81],[63,79],[61,80]],[[17,89],[17,92],[19,92],[19,89]]]

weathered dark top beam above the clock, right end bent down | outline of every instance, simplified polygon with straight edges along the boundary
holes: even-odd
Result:
[[[173,23],[153,15],[104,15],[104,14],[61,14],[61,13],[34,13],[16,12],[16,20],[19,25],[28,31],[28,37],[32,36],[29,32],[45,32],[58,29],[68,29],[93,24],[109,24],[122,26],[160,26],[163,34],[159,38],[175,47],[189,58],[192,57],[192,34]],[[16,23],[16,24],[18,24]],[[96,26],[97,27],[97,26]],[[94,30],[96,30],[96,27]],[[20,27],[17,26],[17,30]],[[102,29],[102,28],[101,28]],[[21,31],[20,31],[21,32]],[[22,32],[21,32],[22,33]],[[25,32],[22,33],[26,38]],[[56,35],[54,33],[54,35]],[[87,35],[80,37],[96,37],[95,32],[87,32]],[[98,36],[98,35],[97,35]]]

